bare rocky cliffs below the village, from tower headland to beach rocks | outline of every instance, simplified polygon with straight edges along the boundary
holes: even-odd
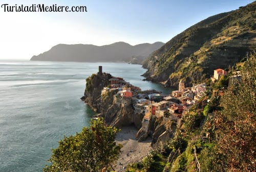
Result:
[[[104,87],[109,86],[111,74],[93,74],[86,79],[86,90],[81,98],[87,102],[92,109],[104,118],[104,122],[111,126],[121,128],[122,126],[134,125],[138,130],[137,139],[145,140],[148,136],[153,138],[152,145],[157,146],[169,138],[173,137],[175,128],[177,127],[177,119],[152,117],[148,130],[145,132],[142,128],[142,120],[144,115],[135,113],[132,104],[116,103],[114,95],[117,90],[109,90],[101,92]]]

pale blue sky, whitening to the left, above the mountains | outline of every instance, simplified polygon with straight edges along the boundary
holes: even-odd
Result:
[[[0,59],[30,59],[57,44],[131,45],[172,37],[252,0],[0,0]],[[5,12],[9,6],[86,6],[87,12]]]

